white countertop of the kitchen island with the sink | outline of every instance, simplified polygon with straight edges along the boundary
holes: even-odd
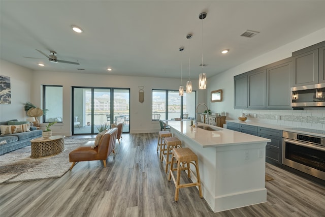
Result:
[[[219,128],[201,122],[199,122],[198,126],[209,126],[218,129],[218,131],[207,131],[200,128],[195,129],[190,126],[190,120],[166,120],[164,122],[174,130],[196,141],[202,147],[254,144],[271,141],[270,139]]]

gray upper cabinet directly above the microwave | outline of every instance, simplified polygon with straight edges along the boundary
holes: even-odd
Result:
[[[305,86],[310,84],[325,83],[324,73],[319,67],[324,65],[322,47],[325,41],[293,52],[293,85]]]

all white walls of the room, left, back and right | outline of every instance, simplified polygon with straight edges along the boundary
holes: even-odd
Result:
[[[293,41],[244,64],[213,76],[207,81],[207,90],[198,90],[197,80],[192,80],[193,89],[198,90],[198,103],[208,103],[212,112],[228,112],[227,119],[237,119],[242,113],[256,113],[259,118],[249,118],[254,121],[270,122],[278,125],[308,127],[325,130],[319,122],[325,118],[325,108],[308,108],[304,111],[287,110],[241,110],[234,109],[234,76],[262,67],[275,61],[291,56],[291,53],[325,40],[325,28],[318,30],[304,38]],[[231,55],[231,53],[230,53]],[[37,106],[42,105],[41,85],[63,85],[63,125],[52,127],[54,134],[71,135],[71,86],[87,87],[126,87],[131,88],[131,133],[157,132],[158,123],[151,121],[151,89],[178,89],[179,79],[147,78],[112,75],[91,75],[83,73],[59,73],[48,71],[34,71],[1,60],[0,74],[11,77],[12,104],[0,105],[0,121],[16,118],[25,120],[26,114],[23,104],[27,101]],[[138,101],[138,86],[145,86],[145,101]],[[223,101],[210,102],[212,90],[223,90]],[[208,94],[207,94],[208,93]],[[275,120],[275,115],[315,117],[319,122]],[[304,118],[298,118],[304,119]],[[306,119],[306,118],[305,118]],[[310,118],[307,118],[310,119]],[[312,119],[312,118],[311,118]],[[325,122],[325,120],[324,120]]]

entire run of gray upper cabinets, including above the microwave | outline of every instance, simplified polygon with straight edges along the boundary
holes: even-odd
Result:
[[[234,108],[292,109],[290,87],[325,83],[325,41],[234,77]]]

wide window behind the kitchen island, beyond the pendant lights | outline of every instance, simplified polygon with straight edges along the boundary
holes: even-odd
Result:
[[[178,90],[152,90],[152,119],[174,119],[177,117],[195,117],[196,91],[184,93],[181,97]],[[188,115],[187,115],[188,114]]]

